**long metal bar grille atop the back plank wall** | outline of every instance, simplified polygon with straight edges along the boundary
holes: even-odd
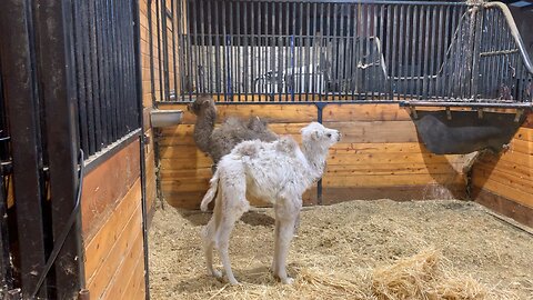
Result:
[[[152,60],[161,78],[155,100],[210,93],[224,101],[531,101],[533,69],[504,6],[281,0],[155,6],[158,28],[151,30],[158,30],[162,49],[161,59]]]

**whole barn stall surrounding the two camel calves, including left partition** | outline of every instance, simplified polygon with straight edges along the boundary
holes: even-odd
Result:
[[[2,298],[531,297],[531,34],[507,7],[9,0],[0,17]],[[292,287],[257,199],[230,248],[243,286],[204,276],[200,93],[218,123],[343,133],[304,194]]]

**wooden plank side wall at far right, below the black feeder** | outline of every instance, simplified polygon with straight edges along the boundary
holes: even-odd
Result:
[[[533,114],[510,148],[485,154],[474,164],[473,198],[489,208],[533,227]]]

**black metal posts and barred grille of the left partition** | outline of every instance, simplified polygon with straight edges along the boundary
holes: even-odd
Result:
[[[138,13],[131,0],[0,2],[2,299],[84,288],[83,161],[141,131]]]

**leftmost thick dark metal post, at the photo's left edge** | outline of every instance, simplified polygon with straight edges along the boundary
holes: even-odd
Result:
[[[12,180],[17,199],[20,280],[24,298],[30,297],[46,263],[42,217],[44,178],[39,168],[42,163],[42,149],[37,81],[32,68],[32,10],[28,3],[19,0],[0,2],[0,66],[2,74],[10,74],[3,78],[2,88],[7,99],[11,149],[17,149],[12,152]],[[48,297],[47,288],[41,288],[39,297]]]

